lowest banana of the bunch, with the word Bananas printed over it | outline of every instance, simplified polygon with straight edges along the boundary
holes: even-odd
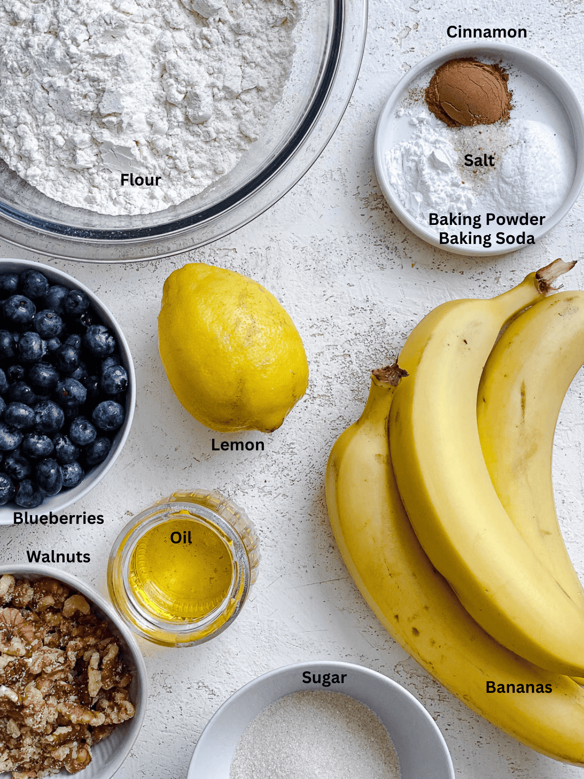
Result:
[[[584,689],[487,635],[421,548],[389,455],[399,373],[375,373],[361,418],[339,437],[326,468],[330,522],[351,576],[389,634],[463,703],[532,749],[584,765]],[[487,682],[505,693],[488,693]]]

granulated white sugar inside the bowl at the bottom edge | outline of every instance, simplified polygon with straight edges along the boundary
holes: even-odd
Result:
[[[241,736],[230,779],[399,779],[399,760],[378,717],[343,693],[276,700]]]

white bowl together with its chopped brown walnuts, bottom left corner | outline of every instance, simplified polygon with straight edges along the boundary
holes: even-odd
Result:
[[[138,644],[93,587],[0,566],[0,776],[109,779],[146,712]]]

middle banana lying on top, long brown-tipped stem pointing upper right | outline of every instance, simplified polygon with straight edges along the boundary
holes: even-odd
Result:
[[[547,271],[565,270],[558,262]],[[535,280],[438,306],[414,328],[399,357],[410,379],[396,390],[389,439],[413,529],[470,615],[541,668],[582,676],[584,614],[509,519],[477,428],[482,369],[505,321],[540,298]]]

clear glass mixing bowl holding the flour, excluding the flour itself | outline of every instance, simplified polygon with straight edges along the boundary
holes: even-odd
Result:
[[[353,91],[368,0],[304,0],[290,78],[262,136],[229,174],[164,211],[109,216],[43,195],[0,161],[0,238],[83,262],[132,262],[186,252],[259,216],[304,175]]]

